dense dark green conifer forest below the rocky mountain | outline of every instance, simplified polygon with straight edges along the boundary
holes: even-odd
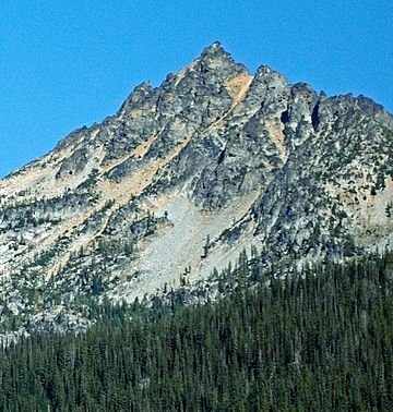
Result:
[[[85,334],[3,349],[0,410],[391,411],[392,274],[385,255],[205,304],[106,305]]]

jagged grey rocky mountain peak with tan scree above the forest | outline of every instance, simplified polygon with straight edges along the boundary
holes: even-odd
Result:
[[[393,241],[393,117],[213,44],[0,182],[0,326],[86,327],[88,304]],[[207,286],[206,286],[207,287]]]

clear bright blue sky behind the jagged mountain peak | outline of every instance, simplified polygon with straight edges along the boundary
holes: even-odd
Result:
[[[392,0],[2,0],[0,175],[215,40],[251,71],[267,64],[393,111]]]

